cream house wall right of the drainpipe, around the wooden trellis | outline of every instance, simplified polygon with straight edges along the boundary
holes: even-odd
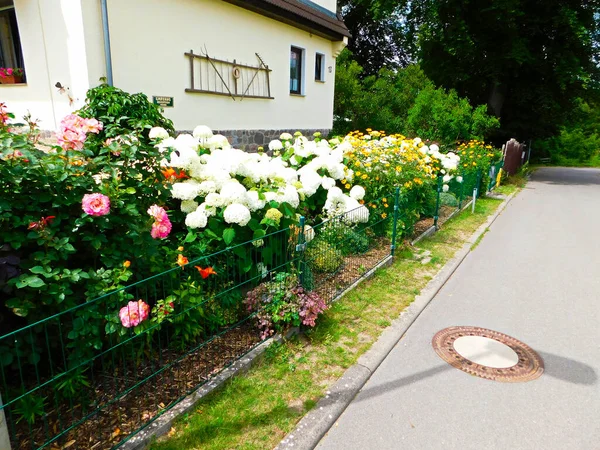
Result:
[[[115,86],[173,97],[165,115],[177,129],[331,128],[337,48],[331,41],[220,0],[109,0],[108,13]],[[304,96],[289,93],[292,45],[305,49]],[[258,64],[259,53],[272,69],[274,100],[186,93],[190,63],[184,53],[204,49],[248,65]],[[317,52],[326,58],[324,83],[314,80]]]

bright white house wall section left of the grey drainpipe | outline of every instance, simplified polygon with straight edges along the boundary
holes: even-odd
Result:
[[[104,53],[86,49],[86,34],[89,40],[93,33],[83,29],[82,1],[88,16],[93,15],[89,0],[15,0],[27,83],[0,85],[0,101],[17,119],[29,111],[42,129],[53,130],[81,106],[87,89],[98,84]],[[95,59],[90,64],[95,73],[88,68],[89,58]],[[68,90],[59,92],[56,83]]]

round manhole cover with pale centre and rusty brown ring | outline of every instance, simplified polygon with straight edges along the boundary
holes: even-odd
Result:
[[[530,381],[544,371],[542,358],[531,347],[485,328],[445,328],[433,337],[432,345],[448,364],[488,380]]]

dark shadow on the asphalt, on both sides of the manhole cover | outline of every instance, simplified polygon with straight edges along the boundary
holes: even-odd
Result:
[[[544,360],[544,373],[542,374],[542,378],[549,376],[562,381],[567,381],[569,383],[582,384],[588,386],[594,385],[598,382],[598,375],[596,374],[596,371],[587,364],[575,361],[570,358],[565,358],[564,356],[553,355],[552,353],[537,353]],[[395,389],[416,383],[425,378],[429,378],[431,376],[445,372],[446,370],[458,369],[455,369],[449,364],[442,364],[436,367],[432,367],[431,369],[427,369],[422,372],[409,375],[407,377],[399,378],[397,380],[390,381],[379,386],[374,386],[372,388],[361,390],[360,394],[353,401],[361,402],[372,397],[385,395],[389,391],[393,391]],[[533,380],[532,382],[535,382],[535,380]]]

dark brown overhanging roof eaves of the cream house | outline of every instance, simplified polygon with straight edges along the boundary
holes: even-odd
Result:
[[[350,37],[343,20],[310,0],[224,0],[280,22],[333,39]]]

